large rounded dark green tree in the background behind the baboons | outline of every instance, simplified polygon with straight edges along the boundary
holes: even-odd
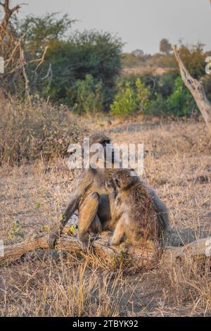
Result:
[[[115,80],[120,75],[122,42],[107,32],[75,32],[68,40],[53,40],[45,56],[39,77],[44,77],[50,66],[52,80],[37,81],[37,92],[51,96],[53,101],[72,104],[68,89],[77,80],[92,75],[101,82],[104,91],[104,108],[109,108],[115,94]]]

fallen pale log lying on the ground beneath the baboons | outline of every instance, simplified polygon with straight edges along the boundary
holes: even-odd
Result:
[[[141,247],[125,243],[120,244],[120,246],[108,246],[108,240],[111,236],[111,232],[102,232],[100,236],[91,242],[90,250],[94,251],[94,254],[98,256],[103,256],[103,258],[113,258],[119,254],[127,254],[127,256],[131,256],[141,266],[146,266],[148,263],[158,263],[160,259],[165,264],[170,264],[176,263],[178,258],[181,260],[186,257],[211,256],[211,237],[198,239],[182,247],[160,249],[158,245],[152,244],[152,242]],[[28,237],[23,242],[18,242],[17,244],[3,246],[1,248],[0,263],[15,261],[24,254],[35,251],[36,249],[49,249],[48,238],[48,234],[42,233],[34,237]],[[60,251],[82,252],[77,238],[65,234],[58,240],[56,249]]]

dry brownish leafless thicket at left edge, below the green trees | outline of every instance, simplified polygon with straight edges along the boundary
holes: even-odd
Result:
[[[64,156],[70,142],[78,142],[87,129],[78,125],[66,106],[41,99],[1,101],[0,164]]]

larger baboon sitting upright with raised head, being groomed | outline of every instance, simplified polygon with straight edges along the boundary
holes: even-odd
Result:
[[[108,144],[112,146],[110,145],[110,138],[102,133],[96,133],[90,137],[90,146],[95,143],[103,146],[106,160],[106,146],[108,147]],[[113,168],[113,148],[111,163],[110,168]],[[56,230],[52,230],[49,235],[49,246],[51,248],[55,246],[63,227],[65,227],[65,224],[76,210],[79,213],[78,239],[84,250],[87,250],[89,246],[90,231],[101,232],[101,230],[115,229],[118,220],[122,217],[122,211],[115,206],[113,194],[110,194],[106,188],[106,182],[110,179],[110,170],[108,166],[106,167],[106,164],[103,169],[84,169],[82,174],[75,180],[74,189],[72,189],[72,198],[63,213],[60,225]],[[155,204],[155,211],[157,217],[160,219],[160,224],[165,229],[169,222],[167,208],[158,196],[156,196],[155,192],[151,191],[149,193]]]

